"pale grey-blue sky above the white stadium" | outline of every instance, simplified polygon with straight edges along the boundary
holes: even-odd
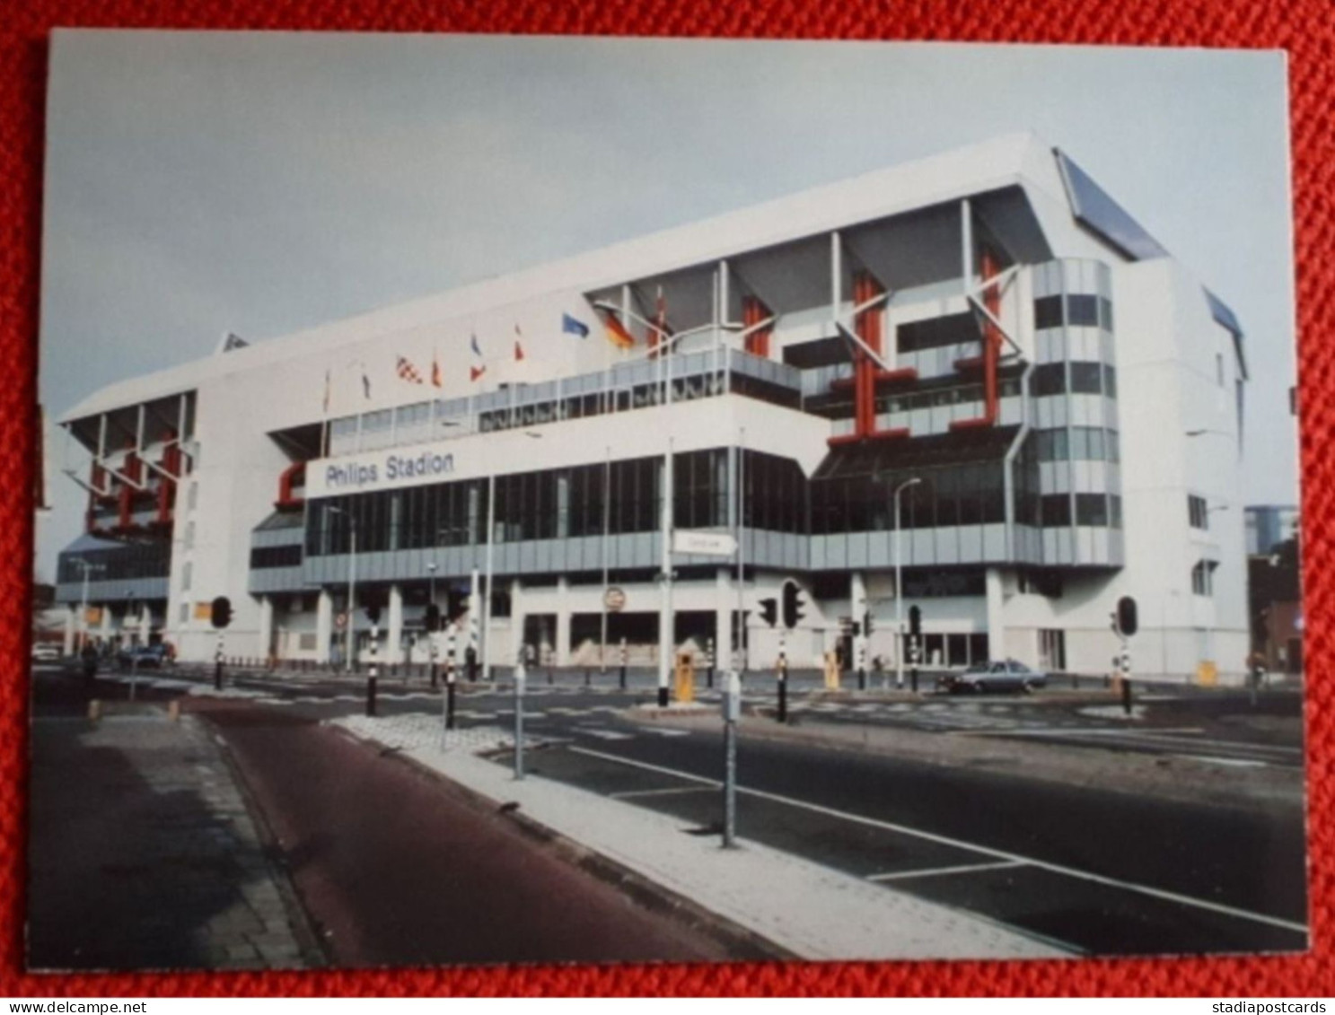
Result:
[[[59,32],[40,396],[1033,129],[1235,309],[1247,499],[1296,503],[1286,95],[1278,52]]]

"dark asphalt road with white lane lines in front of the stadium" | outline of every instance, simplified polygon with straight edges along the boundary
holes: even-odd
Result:
[[[306,719],[356,712],[364,702],[352,683],[252,686],[267,688],[259,700],[275,711]],[[764,686],[752,683],[746,696],[753,710],[772,707]],[[708,834],[720,820],[720,738],[623,714],[626,706],[651,698],[649,687],[619,692],[534,682],[525,703],[526,731],[547,746],[530,754],[529,767],[673,814]],[[1071,750],[1185,751],[1222,764],[1300,766],[1302,744],[1294,742],[1294,723],[1286,722],[1299,707],[1295,695],[1263,695],[1251,711],[1244,695],[1157,698],[1143,706],[1148,711],[1133,731],[1100,711],[1105,706],[1056,694],[861,702],[825,711],[818,696],[797,695],[793,706],[804,723],[898,724],[1004,738],[1041,732],[1048,743]],[[386,680],[379,708],[438,714],[441,696]],[[1239,716],[1247,722],[1232,722]],[[458,722],[507,726],[513,698],[463,686]],[[750,739],[742,744],[740,778],[742,836],[1076,950],[1306,947],[1304,834],[1296,807],[1287,814],[1192,806],[985,767]]]

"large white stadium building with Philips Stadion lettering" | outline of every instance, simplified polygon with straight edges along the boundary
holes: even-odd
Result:
[[[1103,674],[1129,595],[1137,675],[1239,674],[1246,379],[1223,301],[1001,137],[103,388],[65,642],[211,659],[227,596],[227,655],[338,662],[351,592],[388,662],[434,596],[494,664],[760,670],[793,582],[793,666],[893,670],[917,606],[929,666]]]

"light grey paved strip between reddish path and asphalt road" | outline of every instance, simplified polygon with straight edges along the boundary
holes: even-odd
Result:
[[[738,850],[722,850],[714,838],[685,835],[666,815],[535,776],[515,782],[506,767],[477,755],[511,743],[501,728],[453,732],[442,750],[435,718],[348,718],[335,724],[402,751],[481,796],[517,806],[529,820],[804,959],[1068,955],[983,918],[758,843],[742,840]]]

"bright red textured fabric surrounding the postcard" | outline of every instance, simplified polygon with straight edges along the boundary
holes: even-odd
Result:
[[[47,44],[52,27],[519,32],[545,35],[951,39],[1283,48],[1290,57],[1298,308],[1303,336],[1303,514],[1308,618],[1310,868],[1314,951],[1303,958],[1031,963],[770,963],[732,966],[493,967],[312,974],[29,976],[23,972],[27,800],[27,602],[32,514],[0,499],[0,994],[134,995],[1335,995],[1331,963],[1331,471],[1322,441],[1335,428],[1335,145],[1328,119],[1335,69],[1331,0],[494,0],[471,5],[374,0],[21,0],[0,3],[0,475],[32,489],[39,244]],[[1246,256],[1246,252],[1242,252]],[[1327,575],[1331,578],[1327,579]],[[1220,843],[1227,848],[1227,843]]]

